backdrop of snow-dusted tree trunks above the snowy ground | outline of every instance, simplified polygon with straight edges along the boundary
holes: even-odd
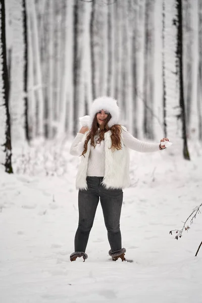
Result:
[[[118,100],[139,139],[202,140],[201,0],[1,0],[1,150],[74,135]],[[13,151],[12,151],[13,149]],[[173,152],[174,153],[174,152]]]

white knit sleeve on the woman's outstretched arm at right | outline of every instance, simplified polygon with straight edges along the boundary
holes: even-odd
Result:
[[[147,143],[133,137],[128,131],[122,130],[124,145],[141,153],[152,153],[159,150],[159,143]]]

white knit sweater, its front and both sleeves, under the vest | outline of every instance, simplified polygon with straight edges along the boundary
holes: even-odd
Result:
[[[82,141],[83,134],[77,133],[70,148],[72,156],[80,156],[81,151],[78,150],[78,144]],[[98,135],[94,137],[94,141]],[[133,137],[128,131],[123,131],[124,145],[141,153],[150,153],[159,150],[159,143],[142,142]],[[96,144],[95,148],[90,147],[90,155],[88,158],[87,176],[104,177],[105,175],[105,141]]]

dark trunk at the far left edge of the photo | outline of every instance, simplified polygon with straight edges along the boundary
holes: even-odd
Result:
[[[7,70],[7,49],[6,49],[6,18],[5,1],[0,1],[0,164],[5,166],[7,173],[13,173],[12,169],[12,147],[11,147],[11,128],[9,113],[9,77]]]

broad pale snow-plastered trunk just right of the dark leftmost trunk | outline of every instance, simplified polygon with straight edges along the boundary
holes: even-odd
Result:
[[[10,75],[10,113],[11,136],[13,145],[25,141],[25,104],[24,104],[24,30],[23,2],[13,0],[11,9],[12,20],[12,65]]]

